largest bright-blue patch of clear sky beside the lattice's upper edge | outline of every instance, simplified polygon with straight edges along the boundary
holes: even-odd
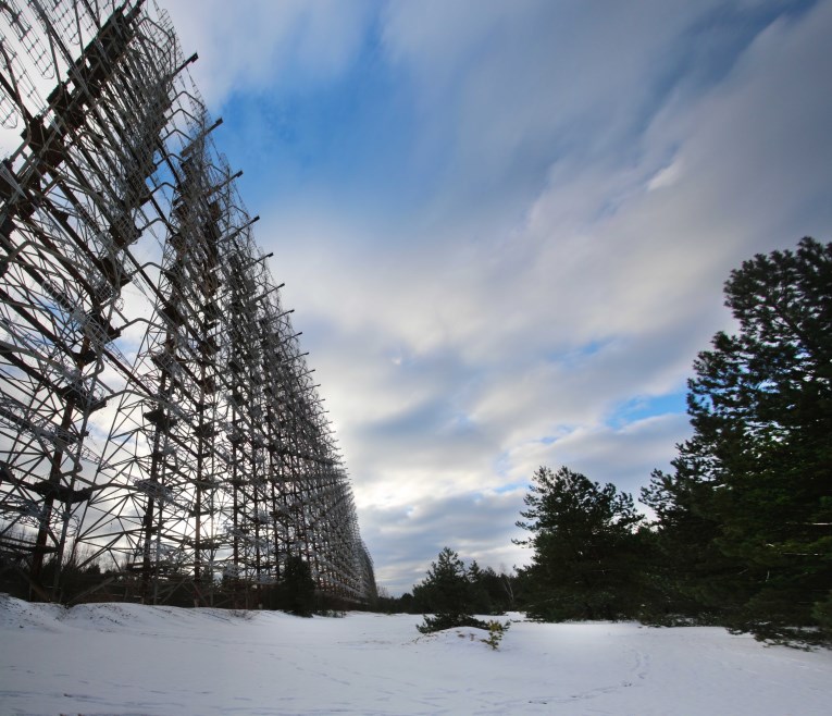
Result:
[[[233,95],[219,131],[232,164],[245,171],[247,202],[291,206],[311,190],[339,198],[339,212],[372,201],[374,211],[394,214],[408,193],[426,192],[430,183],[411,171],[417,127],[406,87],[368,37],[336,77]]]

